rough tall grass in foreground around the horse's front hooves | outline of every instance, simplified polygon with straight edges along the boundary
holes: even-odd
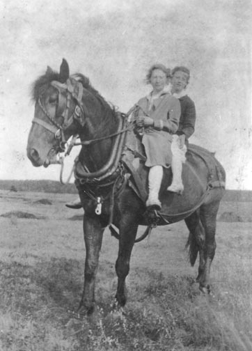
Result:
[[[1,350],[252,350],[249,284],[230,292],[214,286],[205,296],[191,276],[148,270],[148,283],[135,282],[120,309],[100,276],[97,309],[79,320],[68,307],[77,306],[80,270],[78,261],[64,259],[1,263]]]

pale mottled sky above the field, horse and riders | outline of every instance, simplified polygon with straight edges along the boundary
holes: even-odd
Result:
[[[251,0],[1,0],[0,18],[0,179],[59,179],[58,165],[31,165],[26,143],[31,84],[65,58],[122,112],[150,92],[150,65],[186,65],[191,143],[216,153],[228,189],[252,189]]]

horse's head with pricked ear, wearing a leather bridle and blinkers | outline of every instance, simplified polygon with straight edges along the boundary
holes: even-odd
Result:
[[[33,166],[56,163],[65,142],[78,133],[81,120],[83,86],[69,75],[63,59],[59,74],[47,68],[33,84],[35,114],[27,143],[27,156]]]

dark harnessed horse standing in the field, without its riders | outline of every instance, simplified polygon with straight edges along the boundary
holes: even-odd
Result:
[[[139,137],[134,133],[134,120],[116,112],[84,75],[70,75],[65,59],[59,73],[48,67],[45,75],[35,81],[33,100],[35,115],[27,144],[27,155],[33,166],[53,163],[71,136],[78,134],[81,140],[82,148],[74,169],[84,208],[86,244],[84,291],[79,310],[91,313],[94,309],[95,275],[102,235],[108,225],[119,239],[116,299],[123,306],[125,279],[138,226],[150,228],[145,208],[148,169],[144,165],[143,150],[139,152],[136,148],[141,142],[136,142]],[[140,161],[133,166],[136,160]],[[164,173],[159,194],[162,211],[157,213],[156,224],[184,219],[190,232],[191,265],[199,253],[196,281],[200,290],[210,291],[216,214],[224,192],[225,171],[212,153],[191,145],[182,179],[183,194],[173,194],[166,191],[171,184],[171,170]]]

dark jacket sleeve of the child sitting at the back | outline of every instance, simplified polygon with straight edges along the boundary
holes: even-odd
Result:
[[[193,100],[187,95],[180,99],[181,116],[180,125],[176,134],[185,134],[187,139],[194,134],[194,127],[196,121],[196,109]]]

